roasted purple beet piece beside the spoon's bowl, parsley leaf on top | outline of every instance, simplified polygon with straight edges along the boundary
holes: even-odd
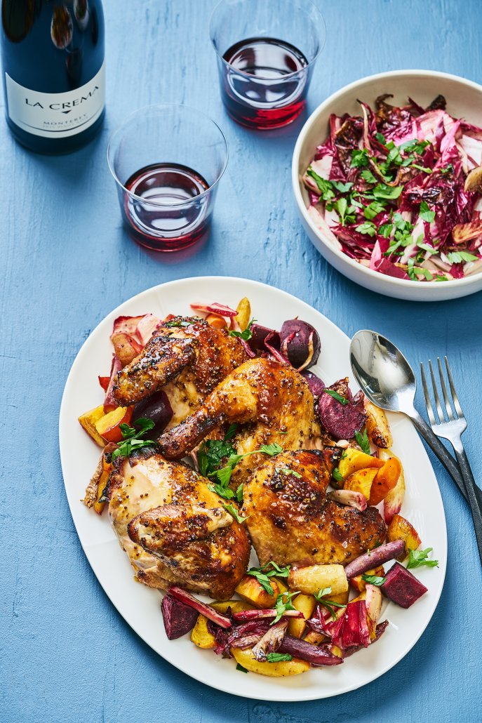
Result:
[[[353,397],[348,379],[340,379],[319,395],[317,414],[330,435],[338,440],[350,440],[365,423],[363,395]]]

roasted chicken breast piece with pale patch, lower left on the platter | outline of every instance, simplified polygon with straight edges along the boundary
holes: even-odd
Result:
[[[111,524],[136,578],[229,599],[248,562],[246,526],[189,466],[152,450],[118,458],[106,490]]]

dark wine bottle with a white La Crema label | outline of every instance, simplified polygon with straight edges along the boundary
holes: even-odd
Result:
[[[100,130],[105,106],[101,0],[1,0],[7,124],[40,153],[68,153]]]

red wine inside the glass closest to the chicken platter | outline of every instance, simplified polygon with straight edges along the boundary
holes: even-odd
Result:
[[[199,241],[209,226],[209,188],[197,171],[152,163],[124,184],[124,221],[135,241],[155,251],[178,251]],[[142,199],[142,200],[141,200]]]

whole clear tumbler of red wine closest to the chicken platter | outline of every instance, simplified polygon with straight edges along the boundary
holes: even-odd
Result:
[[[214,121],[189,106],[141,108],[113,132],[107,158],[134,241],[179,251],[205,239],[228,163]]]

